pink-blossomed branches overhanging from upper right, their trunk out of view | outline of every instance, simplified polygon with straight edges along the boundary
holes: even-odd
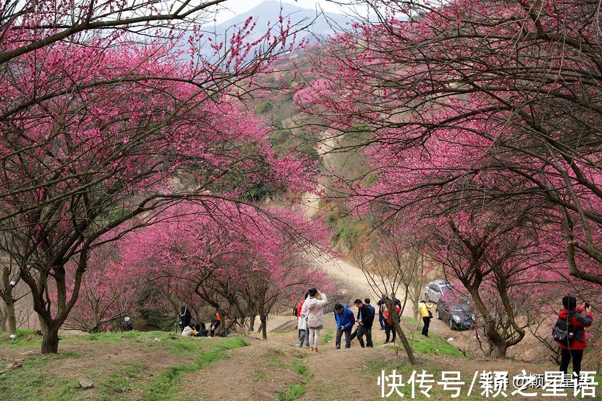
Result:
[[[479,171],[513,176],[515,186],[483,185],[471,195],[549,204],[562,216],[553,231],[571,275],[601,284],[597,7],[573,0],[387,2],[376,8],[376,22],[358,23],[328,44],[316,65],[328,87],[315,103],[331,135],[362,123],[374,132],[370,143],[391,149],[421,146],[435,130],[478,121],[470,130],[479,144],[458,146],[486,152]],[[445,183],[474,172],[470,165],[449,171]]]

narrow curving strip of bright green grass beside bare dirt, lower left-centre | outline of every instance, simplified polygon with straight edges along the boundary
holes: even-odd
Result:
[[[157,375],[149,385],[147,385],[143,401],[161,401],[169,400],[178,391],[179,379],[185,373],[194,372],[203,369],[210,364],[226,357],[226,350],[247,346],[248,343],[242,338],[228,338],[220,344],[214,344],[208,350],[197,350],[197,357],[193,363],[187,365],[171,366],[164,369]]]

